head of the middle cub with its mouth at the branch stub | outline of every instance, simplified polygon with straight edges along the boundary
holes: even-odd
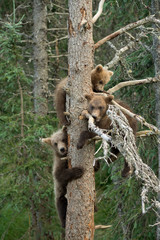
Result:
[[[106,116],[106,111],[108,105],[111,104],[111,101],[114,99],[113,95],[108,95],[104,97],[98,94],[90,94],[85,96],[88,100],[88,112],[94,118],[95,122],[100,122],[101,119]]]

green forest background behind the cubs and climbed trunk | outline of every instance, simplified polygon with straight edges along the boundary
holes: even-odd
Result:
[[[0,2],[0,239],[60,239],[54,206],[52,150],[39,141],[58,128],[53,92],[68,74],[68,2],[44,1],[47,6],[47,88],[45,108],[37,107],[34,5],[32,1]],[[93,1],[93,15],[99,0]],[[106,1],[94,24],[95,43],[121,27],[152,13],[151,1]],[[146,25],[145,25],[146,26]],[[153,28],[140,26],[131,34],[138,41],[111,68],[114,75],[106,90],[119,82],[154,77]],[[94,65],[110,62],[131,35],[122,34],[95,52]],[[34,53],[34,54],[33,54]],[[43,68],[43,66],[42,66]],[[38,91],[38,90],[37,90]],[[156,125],[154,84],[125,87],[115,94],[147,122]],[[47,107],[46,107],[47,106]],[[158,175],[157,138],[138,138],[143,161]],[[141,182],[134,175],[121,177],[123,158],[109,166],[101,162],[96,173],[95,224],[111,225],[95,231],[95,239],[156,239],[155,213],[141,210]]]

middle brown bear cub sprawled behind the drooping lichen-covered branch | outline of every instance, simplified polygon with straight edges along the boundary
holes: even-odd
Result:
[[[111,120],[107,116],[106,111],[108,109],[108,105],[112,104],[111,102],[112,102],[114,96],[109,95],[109,96],[104,97],[100,94],[95,95],[94,93],[92,93],[91,95],[86,95],[86,98],[89,101],[88,112],[95,119],[96,126],[98,126],[101,129],[107,129],[107,130],[111,129],[112,128]],[[130,110],[128,105],[126,105],[122,101],[116,100],[116,102],[119,105],[121,105],[122,107]],[[134,118],[132,118],[132,117],[126,115],[126,114],[125,114],[125,116],[128,119],[130,127],[133,129],[134,135],[136,135],[136,129],[137,129],[136,119],[134,119]],[[79,140],[78,140],[77,148],[81,149],[84,146],[84,144],[86,143],[86,141],[89,138],[93,138],[94,136],[96,136],[96,134],[93,133],[93,132],[89,132],[89,131],[81,132]],[[113,153],[115,156],[111,155],[110,159],[111,159],[111,161],[115,161],[117,159],[118,154],[119,154],[119,150],[115,147],[112,147],[111,148],[111,153]],[[122,176],[127,177],[130,173],[131,173],[131,169],[128,166],[127,162],[125,161],[124,169],[122,171]]]

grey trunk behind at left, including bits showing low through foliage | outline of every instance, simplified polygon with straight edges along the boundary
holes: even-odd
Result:
[[[47,6],[43,0],[33,2],[33,22],[34,111],[37,117],[45,116],[48,112]],[[38,182],[36,174],[33,176],[33,182],[35,184]],[[37,209],[35,204],[32,204],[32,221],[36,240],[43,238],[41,215],[42,209]]]

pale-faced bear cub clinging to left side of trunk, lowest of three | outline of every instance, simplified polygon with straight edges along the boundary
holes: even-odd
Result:
[[[65,228],[67,211],[65,194],[67,192],[67,184],[74,179],[80,178],[84,170],[82,167],[69,169],[67,160],[61,160],[61,158],[67,156],[68,152],[67,131],[65,128],[53,133],[49,138],[42,138],[42,142],[52,146],[55,153],[53,165],[55,202],[61,225]]]

